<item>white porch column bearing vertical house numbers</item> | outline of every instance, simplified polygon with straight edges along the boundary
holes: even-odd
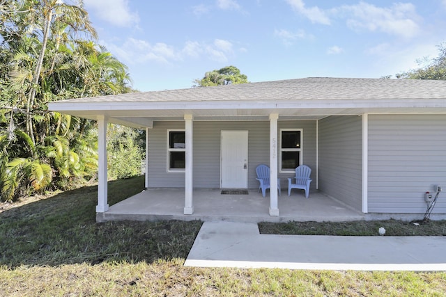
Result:
[[[270,216],[279,216],[277,207],[277,113],[270,114]]]

